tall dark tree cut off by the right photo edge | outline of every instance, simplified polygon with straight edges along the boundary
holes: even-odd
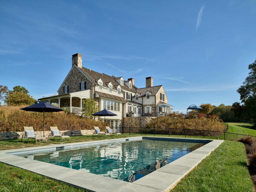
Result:
[[[246,115],[256,122],[256,60],[248,66],[249,75],[245,78],[243,84],[237,89],[240,99],[244,103]],[[256,127],[256,124],[254,125]]]

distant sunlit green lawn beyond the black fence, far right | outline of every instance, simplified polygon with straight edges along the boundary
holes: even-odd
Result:
[[[227,132],[256,136],[256,130],[251,129],[252,126],[252,123],[228,123]]]

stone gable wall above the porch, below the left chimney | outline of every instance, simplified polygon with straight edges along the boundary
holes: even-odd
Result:
[[[66,85],[69,87],[69,93],[80,91],[80,82],[84,81],[86,82],[86,89],[93,90],[93,83],[77,67],[73,67],[58,90],[59,95],[64,94],[63,87]]]

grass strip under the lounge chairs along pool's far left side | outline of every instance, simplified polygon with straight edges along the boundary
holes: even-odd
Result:
[[[0,150],[6,150],[6,149],[17,149],[17,148],[23,148],[23,147],[37,147],[37,146],[43,146],[43,145],[50,145],[50,144],[60,144],[60,143],[75,143],[75,142],[84,142],[84,141],[95,141],[95,140],[103,140],[103,139],[116,139],[116,138],[122,138],[122,137],[132,137],[132,135],[111,135],[111,138],[109,136],[104,137],[103,135],[84,135],[84,136],[71,136],[70,141],[69,139],[65,139],[61,141],[59,138],[56,140],[50,139],[47,141],[41,141],[41,143],[37,142],[35,143],[35,140],[30,139],[29,143],[27,139],[23,139],[21,142],[21,139],[14,139],[14,140],[2,140],[0,141]]]

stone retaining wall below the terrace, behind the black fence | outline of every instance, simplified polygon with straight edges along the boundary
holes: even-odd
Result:
[[[156,117],[124,117],[124,127],[145,127],[151,120]]]

